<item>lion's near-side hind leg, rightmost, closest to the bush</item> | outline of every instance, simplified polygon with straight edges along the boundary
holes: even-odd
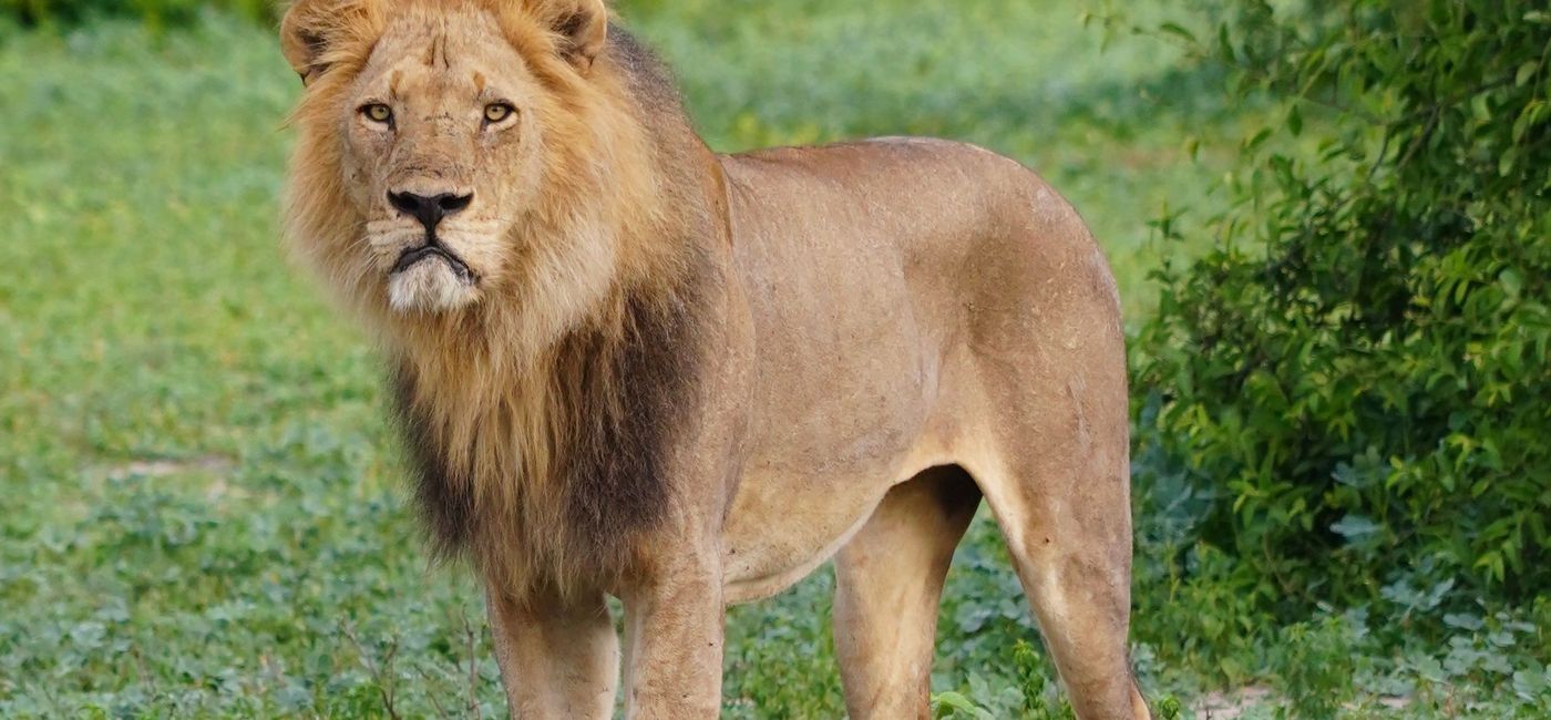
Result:
[[[1131,473],[1118,372],[1118,362],[1073,362],[1031,374],[1028,385],[1048,389],[1014,393],[1021,402],[986,431],[997,452],[966,466],[1083,720],[1149,717],[1128,658]]]

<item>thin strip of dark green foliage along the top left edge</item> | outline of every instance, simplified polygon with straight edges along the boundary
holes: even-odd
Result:
[[[0,19],[23,26],[68,26],[93,17],[138,17],[161,28],[186,25],[206,8],[275,22],[281,6],[281,0],[0,0]]]

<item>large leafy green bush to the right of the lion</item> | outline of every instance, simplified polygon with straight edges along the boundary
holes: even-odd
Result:
[[[1551,12],[1340,5],[1163,28],[1284,115],[1199,228],[1219,248],[1155,273],[1142,512],[1185,528],[1182,565],[1219,548],[1287,618],[1523,601],[1551,587]]]

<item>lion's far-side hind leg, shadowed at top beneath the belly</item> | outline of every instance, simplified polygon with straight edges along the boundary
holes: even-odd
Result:
[[[959,467],[895,486],[834,559],[834,650],[851,718],[931,717],[937,607],[980,489]]]

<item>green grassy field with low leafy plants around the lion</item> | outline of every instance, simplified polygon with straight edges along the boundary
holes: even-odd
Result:
[[[1079,0],[624,5],[718,149],[931,133],[1024,160],[1092,222],[1132,313],[1152,303],[1146,222],[1222,202],[1236,119],[1168,45],[1101,51]],[[0,34],[0,715],[504,712],[478,593],[462,568],[427,566],[402,503],[380,368],[279,250],[298,92],[270,33],[222,17]],[[1199,164],[1190,135],[1208,137]],[[1177,599],[1148,552],[1143,611],[1202,601]],[[731,611],[726,715],[844,714],[831,587],[822,569]],[[1169,622],[1138,616],[1134,655],[1185,714],[1289,675],[1366,683],[1342,695],[1357,717],[1528,708],[1492,704],[1501,638],[1464,641],[1480,673],[1427,684],[1432,666],[1365,659],[1390,650],[1342,614],[1236,628],[1231,656],[1187,650]],[[1504,622],[1509,646],[1540,638]],[[945,715],[1064,712],[986,521],[955,559],[934,687]]]

